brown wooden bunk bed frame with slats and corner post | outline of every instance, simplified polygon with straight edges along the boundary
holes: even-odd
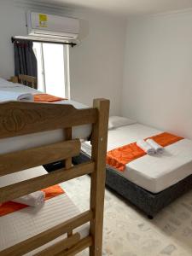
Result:
[[[90,247],[91,256],[102,256],[108,111],[109,101],[105,99],[96,99],[93,108],[85,109],[76,109],[71,105],[35,102],[0,103],[0,139],[56,129],[64,129],[66,133],[66,140],[63,142],[0,155],[0,176],[65,160],[65,168],[0,188],[0,203],[90,174],[89,211],[6,248],[0,252],[1,256],[18,256],[32,252],[64,234],[67,234],[66,239],[36,255],[75,255]],[[86,124],[92,124],[92,157],[87,163],[72,166],[72,157],[80,153],[80,141],[72,139],[72,127]],[[90,235],[80,239],[79,233],[73,234],[73,230],[85,223],[90,223]]]

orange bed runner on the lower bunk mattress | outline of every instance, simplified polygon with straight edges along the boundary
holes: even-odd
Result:
[[[49,200],[51,198],[54,198],[57,195],[62,195],[65,193],[65,191],[63,189],[61,189],[61,187],[59,185],[54,185],[47,189],[41,189],[41,190],[44,191],[44,193],[45,193],[45,201]],[[7,215],[9,213],[12,213],[12,212],[19,211],[26,207],[28,207],[28,206],[19,204],[19,203],[13,202],[13,201],[5,202],[0,206],[0,217]]]

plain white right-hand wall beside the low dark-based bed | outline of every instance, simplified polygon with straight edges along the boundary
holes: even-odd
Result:
[[[128,20],[121,113],[192,138],[192,12]]]

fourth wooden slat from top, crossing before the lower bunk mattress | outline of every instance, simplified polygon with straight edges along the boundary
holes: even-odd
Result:
[[[62,224],[58,224],[55,227],[46,230],[36,236],[32,236],[26,241],[21,241],[13,247],[9,247],[2,252],[0,252],[1,256],[20,256],[25,253],[31,252],[37,247],[41,247],[49,241],[54,240],[56,237],[66,234],[70,230],[74,230],[77,227],[85,224],[92,219],[93,214],[91,211],[83,212],[78,216],[71,218]]]

